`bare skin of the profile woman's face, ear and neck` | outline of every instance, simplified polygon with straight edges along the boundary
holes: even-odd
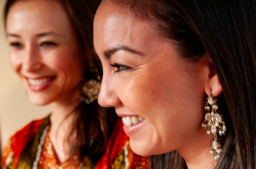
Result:
[[[205,93],[212,89],[217,96],[222,89],[217,75],[211,74],[209,57],[199,63],[180,59],[176,46],[150,23],[109,0],[94,19],[94,47],[103,66],[100,105],[115,107],[118,116],[145,119],[129,135],[132,150],[143,156],[178,150],[189,168],[210,168],[211,139],[201,127]],[[104,53],[113,49],[106,57]],[[125,66],[111,66],[115,63]]]

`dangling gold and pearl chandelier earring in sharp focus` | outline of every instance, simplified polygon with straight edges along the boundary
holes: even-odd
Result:
[[[208,112],[205,114],[205,120],[202,123],[202,127],[204,129],[208,129],[206,134],[209,135],[209,137],[211,137],[211,132],[214,134],[214,140],[212,141],[212,148],[210,150],[210,153],[212,156],[215,154],[215,161],[220,159],[220,153],[222,152],[222,149],[220,148],[220,142],[217,140],[217,133],[219,133],[220,136],[225,135],[225,132],[227,130],[223,121],[223,117],[216,112],[216,110],[218,109],[216,102],[217,100],[214,99],[214,97],[212,96],[211,90],[204,107],[204,110]],[[212,108],[211,113],[209,113],[210,108]]]

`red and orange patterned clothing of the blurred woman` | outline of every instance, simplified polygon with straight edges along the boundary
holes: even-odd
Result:
[[[148,169],[148,158],[132,152],[129,137],[118,119],[102,157],[76,158],[59,163],[48,135],[49,116],[29,123],[11,137],[1,157],[2,169]]]

